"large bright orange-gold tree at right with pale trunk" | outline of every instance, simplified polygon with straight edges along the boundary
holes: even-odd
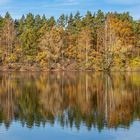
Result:
[[[116,60],[119,58],[122,66],[125,66],[128,52],[134,47],[132,24],[109,13],[101,30],[103,32],[102,35],[98,34],[98,46],[101,44],[104,50],[104,69],[111,68],[114,57]]]

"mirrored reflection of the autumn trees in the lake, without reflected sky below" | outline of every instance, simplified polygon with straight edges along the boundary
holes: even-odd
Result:
[[[140,119],[139,73],[0,74],[0,124],[88,130],[129,128]]]

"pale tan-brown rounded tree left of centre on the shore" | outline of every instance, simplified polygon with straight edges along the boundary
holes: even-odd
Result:
[[[43,59],[47,61],[49,68],[54,68],[54,65],[63,59],[64,47],[64,32],[61,28],[52,28],[46,31],[40,39],[38,55],[44,55]],[[39,57],[39,56],[38,56]]]

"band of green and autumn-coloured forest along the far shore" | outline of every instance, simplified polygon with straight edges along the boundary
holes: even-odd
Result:
[[[139,71],[140,20],[128,12],[0,16],[0,71]]]

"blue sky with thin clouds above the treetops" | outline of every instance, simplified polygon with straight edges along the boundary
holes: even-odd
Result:
[[[86,11],[96,12],[98,9],[103,12],[128,11],[134,19],[140,19],[140,0],[0,0],[0,15],[9,11],[13,18],[29,12],[58,18],[62,13],[79,11],[84,15]]]

